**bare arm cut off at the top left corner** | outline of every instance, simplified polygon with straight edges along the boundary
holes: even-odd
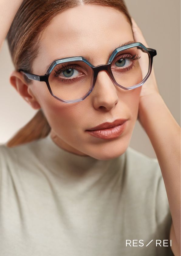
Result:
[[[0,49],[23,0],[0,0]]]

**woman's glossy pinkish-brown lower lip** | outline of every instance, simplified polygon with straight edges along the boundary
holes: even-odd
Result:
[[[97,138],[113,139],[121,135],[121,133],[125,130],[126,124],[127,124],[127,121],[125,121],[121,125],[114,126],[112,128],[106,128],[106,129],[94,130],[94,131],[86,130],[86,132]]]

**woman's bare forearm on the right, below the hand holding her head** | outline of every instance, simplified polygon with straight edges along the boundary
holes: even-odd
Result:
[[[161,95],[152,94],[140,102],[140,123],[155,150],[180,247],[180,126]]]

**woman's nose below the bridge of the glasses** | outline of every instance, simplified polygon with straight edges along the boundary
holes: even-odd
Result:
[[[118,102],[117,86],[109,77],[107,71],[101,70],[97,74],[91,97],[95,109],[111,110]]]

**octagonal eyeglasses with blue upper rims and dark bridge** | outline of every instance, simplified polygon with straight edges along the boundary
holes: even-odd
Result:
[[[107,64],[94,66],[84,57],[68,57],[53,61],[46,74],[22,71],[27,78],[46,82],[50,94],[65,103],[79,102],[93,91],[98,72],[105,70],[114,85],[124,90],[145,83],[152,71],[156,50],[142,43],[130,43],[116,48]]]

